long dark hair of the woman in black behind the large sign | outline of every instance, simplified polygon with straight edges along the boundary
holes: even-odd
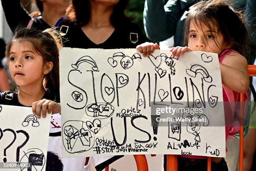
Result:
[[[124,20],[132,20],[125,15],[124,11],[128,5],[129,0],[119,0],[114,6],[113,13],[111,14],[110,21],[113,27],[117,27],[120,22]],[[67,8],[66,18],[77,25],[86,25],[91,16],[91,3],[90,0],[72,0],[71,5]]]

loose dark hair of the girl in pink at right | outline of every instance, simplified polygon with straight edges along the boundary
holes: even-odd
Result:
[[[210,30],[214,30],[212,25],[216,25],[218,33],[220,32],[224,37],[224,42],[231,45],[231,48],[241,55],[245,55],[247,45],[246,22],[242,13],[234,10],[230,3],[225,0],[203,0],[198,2],[185,20],[185,46],[188,45],[191,22],[201,28],[202,24],[205,24]],[[217,42],[215,43],[218,45]]]

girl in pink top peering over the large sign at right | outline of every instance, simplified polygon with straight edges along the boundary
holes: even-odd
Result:
[[[201,1],[195,5],[185,21],[185,47],[172,47],[171,52],[177,58],[188,51],[217,53],[222,84],[231,92],[233,91],[235,101],[238,101],[239,93],[245,93],[250,84],[247,60],[244,57],[246,44],[246,26],[240,12],[235,11],[223,0]],[[137,46],[137,49],[144,56],[148,56],[154,49],[158,49],[158,45],[144,43]],[[224,91],[223,101],[228,102]],[[230,127],[226,126],[226,139],[229,130]],[[179,170],[206,171],[207,161],[199,159],[198,156],[194,159],[182,156],[179,157]],[[212,158],[212,171],[227,170],[228,167],[223,158]]]

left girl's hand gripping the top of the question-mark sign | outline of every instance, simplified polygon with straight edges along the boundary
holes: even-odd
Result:
[[[41,111],[42,111],[43,117],[45,118],[47,110],[48,110],[48,113],[52,113],[52,114],[60,113],[61,112],[60,103],[56,103],[54,101],[47,100],[47,99],[41,99],[32,103],[33,114],[37,115],[38,118],[41,117]]]

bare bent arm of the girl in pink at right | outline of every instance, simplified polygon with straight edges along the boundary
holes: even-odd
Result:
[[[227,55],[220,63],[222,83],[238,93],[245,93],[249,86],[247,60],[239,53]]]

